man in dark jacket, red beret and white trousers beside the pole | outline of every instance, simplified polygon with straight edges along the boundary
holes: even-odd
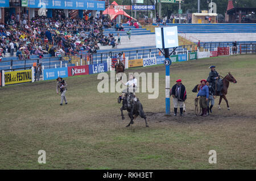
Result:
[[[184,102],[187,99],[187,91],[185,86],[181,83],[181,79],[177,79],[176,84],[172,86],[170,92],[174,103],[174,116],[177,115],[177,107],[180,107],[180,116],[183,116]]]

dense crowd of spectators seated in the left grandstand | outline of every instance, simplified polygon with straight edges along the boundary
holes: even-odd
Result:
[[[19,57],[20,60],[30,58],[31,54],[43,57],[65,56],[81,53],[97,53],[99,44],[112,45],[113,34],[104,36],[104,29],[115,26],[114,20],[105,16],[99,18],[65,18],[60,15],[55,18],[35,16],[28,23],[27,14],[11,15],[5,24],[0,24],[0,53],[5,56]]]

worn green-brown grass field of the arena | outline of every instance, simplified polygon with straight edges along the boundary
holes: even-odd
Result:
[[[194,114],[191,90],[216,65],[237,79],[218,110]],[[163,65],[126,72],[159,72],[159,97],[137,93],[149,128],[138,117],[121,119],[118,92],[99,93],[97,74],[65,78],[68,104],[60,106],[56,81],[0,87],[0,169],[256,169],[256,55],[205,58],[171,65],[171,86],[181,78],[188,99],[184,117],[164,116]],[[171,112],[173,112],[171,100]],[[46,151],[46,164],[38,151]],[[209,150],[217,163],[209,164]]]

